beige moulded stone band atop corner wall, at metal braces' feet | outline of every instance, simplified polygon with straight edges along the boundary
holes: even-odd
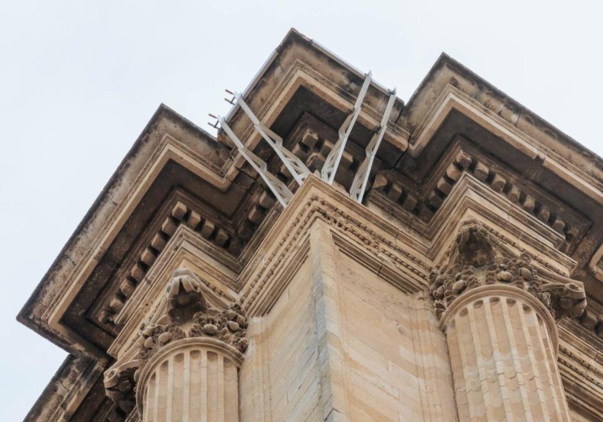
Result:
[[[370,221],[370,226],[362,224],[361,220]],[[271,295],[282,291],[279,283],[282,285],[287,279],[281,274],[288,263],[300,262],[300,257],[292,255],[291,251],[301,253],[307,249],[303,244],[315,221],[324,222],[341,238],[349,239],[348,242],[362,245],[369,261],[377,260],[379,268],[387,267],[397,273],[400,282],[406,280],[405,283],[412,286],[408,289],[416,291],[426,285],[431,266],[428,260],[420,258],[420,252],[397,246],[396,239],[405,236],[399,228],[311,176],[239,276],[241,300],[250,316],[266,312],[268,304],[274,301]],[[367,266],[375,265],[367,262]]]

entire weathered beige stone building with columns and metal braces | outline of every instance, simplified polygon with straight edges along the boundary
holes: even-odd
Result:
[[[27,420],[602,420],[601,158],[294,30],[232,102],[161,105],[19,313],[69,351]]]

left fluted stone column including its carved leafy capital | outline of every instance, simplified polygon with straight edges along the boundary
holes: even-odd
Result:
[[[208,306],[192,272],[175,271],[136,341],[104,379],[112,421],[136,406],[147,422],[236,422],[238,370],[247,348],[241,307]]]

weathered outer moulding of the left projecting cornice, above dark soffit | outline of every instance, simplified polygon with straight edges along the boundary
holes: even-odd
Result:
[[[136,165],[134,162],[129,162],[126,166],[127,171],[131,173],[129,183],[125,184],[124,180],[115,181],[114,183],[119,183],[118,190],[111,191],[108,187],[107,192],[101,194],[101,197],[111,195],[110,199],[105,200],[107,210],[103,213],[95,210],[94,220],[90,220],[89,216],[84,218],[86,222],[84,235],[76,236],[68,242],[58,257],[60,262],[53,264],[39,288],[19,313],[18,319],[22,323],[40,330],[40,333],[48,335],[52,341],[72,353],[96,353],[96,351],[95,347],[87,345],[86,341],[65,329],[59,321],[84,280],[90,275],[165,163],[174,160],[185,168],[197,172],[203,178],[209,174],[215,174],[213,170],[208,170],[203,163],[195,160],[194,157],[198,156],[198,153],[193,153],[190,146],[183,145],[182,142],[168,134],[163,136],[159,142],[145,144],[145,150],[149,151],[138,153],[139,156],[136,156],[135,159],[130,158],[130,161],[136,161]],[[118,169],[116,174],[121,171],[121,168]],[[60,275],[57,274],[57,271],[60,272]],[[54,284],[57,286],[51,288]],[[45,286],[45,292],[52,291],[53,295],[45,297],[44,300],[36,300],[37,291],[41,289],[42,285]]]

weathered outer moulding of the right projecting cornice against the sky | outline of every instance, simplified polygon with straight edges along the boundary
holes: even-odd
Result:
[[[436,110],[446,108],[468,113],[485,127],[491,125],[492,130],[499,131],[501,139],[507,137],[514,149],[525,151],[533,159],[538,157],[546,168],[571,180],[588,195],[595,195],[593,198],[598,198],[599,203],[603,200],[600,157],[446,54],[438,58],[400,115],[398,124],[411,133],[409,150],[418,152],[414,145],[425,145],[417,139],[425,128],[434,127],[437,119],[445,118],[447,112]],[[572,160],[568,160],[570,156]]]

